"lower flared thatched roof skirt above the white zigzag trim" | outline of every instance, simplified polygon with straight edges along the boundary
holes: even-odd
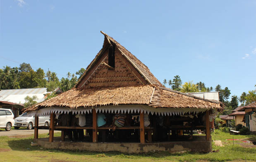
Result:
[[[218,110],[222,110],[224,107],[221,102],[185,95],[159,86],[146,85],[87,89],[72,88],[50,100],[27,108],[25,112],[50,106],[64,106],[76,109],[79,107],[118,104],[144,104],[154,108],[216,108]]]

